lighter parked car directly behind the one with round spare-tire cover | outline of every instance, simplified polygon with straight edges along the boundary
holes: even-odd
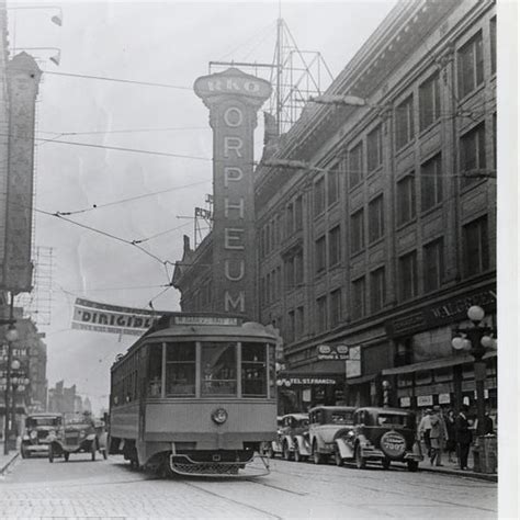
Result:
[[[323,464],[335,453],[336,439],[353,427],[353,406],[317,406],[308,412],[309,443],[315,464]]]

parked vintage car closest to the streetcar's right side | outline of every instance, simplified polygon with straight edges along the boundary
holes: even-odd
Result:
[[[308,414],[287,414],[282,417],[279,440],[272,450],[281,453],[286,461],[301,462],[310,455],[308,443]]]

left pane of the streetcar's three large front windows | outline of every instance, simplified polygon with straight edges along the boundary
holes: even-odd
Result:
[[[194,342],[166,344],[166,395],[195,395]]]

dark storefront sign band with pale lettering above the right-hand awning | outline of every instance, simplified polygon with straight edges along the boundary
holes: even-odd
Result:
[[[445,299],[439,304],[392,319],[386,323],[386,331],[388,336],[395,337],[462,320],[466,318],[467,309],[472,305],[479,305],[488,313],[495,310],[497,306],[495,286],[473,291],[464,296]]]

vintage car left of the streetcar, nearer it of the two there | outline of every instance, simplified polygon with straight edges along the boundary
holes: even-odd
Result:
[[[100,448],[95,423],[92,420],[80,420],[66,422],[53,438],[48,449],[48,461],[64,455],[65,462],[69,460],[70,453],[90,453],[91,460],[95,461],[95,453]],[[102,451],[106,459],[106,450]]]

